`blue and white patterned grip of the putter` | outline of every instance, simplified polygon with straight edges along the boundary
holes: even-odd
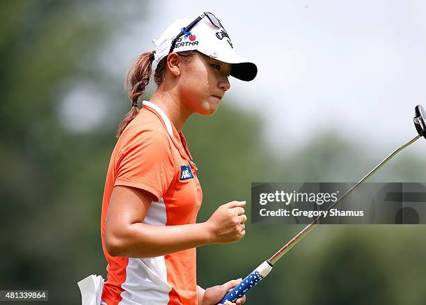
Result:
[[[256,269],[248,274],[241,283],[239,283],[235,288],[233,288],[228,294],[223,297],[220,304],[223,304],[226,301],[235,302],[236,299],[245,295],[248,290],[251,290],[254,286],[256,286],[260,281],[262,281],[265,276],[271,272],[272,264],[267,260],[259,265]]]

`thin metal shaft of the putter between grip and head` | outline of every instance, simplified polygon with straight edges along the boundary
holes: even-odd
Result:
[[[390,155],[388,155],[388,157],[386,157],[386,159],[384,159],[382,162],[380,162],[379,165],[377,165],[376,167],[374,167],[374,169],[372,169],[372,171],[370,171],[370,173],[368,173],[367,175],[365,175],[364,178],[362,178],[361,180],[359,180],[358,183],[356,183],[356,185],[354,185],[351,189],[349,189],[349,191],[347,191],[340,198],[338,198],[338,200],[336,202],[334,202],[327,209],[327,211],[331,210],[332,208],[334,208],[347,195],[349,195],[352,191],[354,191],[354,189],[356,189],[356,187],[358,187],[358,185],[361,185],[361,183],[365,182],[365,180],[368,180],[368,178],[370,178],[376,171],[378,171],[381,166],[383,166],[384,164],[386,164],[386,162],[388,162],[395,155],[397,155],[397,153],[400,153],[401,150],[403,150],[404,148],[407,148],[412,143],[416,142],[418,139],[420,139],[420,137],[421,137],[420,135],[417,135],[414,139],[412,139],[411,141],[405,143],[403,146],[400,146],[400,148],[397,148],[393,153],[391,153]],[[322,218],[323,218],[323,215],[319,215],[310,224],[308,224],[308,226],[306,226],[305,228],[303,228],[303,230],[301,230],[296,236],[294,236],[292,238],[292,240],[290,240],[290,242],[287,242],[287,244],[285,244],[285,246],[283,248],[281,248],[278,252],[276,252],[273,256],[271,256],[271,258],[269,258],[269,260],[268,260],[269,263],[271,263],[272,265],[274,265],[274,263],[276,263],[277,260],[279,260],[280,258],[282,258],[285,255],[285,253],[287,253],[288,251],[290,251],[290,249],[292,249],[292,247],[294,247],[297,244],[297,242],[299,242],[306,234],[308,234],[313,228],[315,228],[315,226],[317,225],[318,221],[321,220]]]

